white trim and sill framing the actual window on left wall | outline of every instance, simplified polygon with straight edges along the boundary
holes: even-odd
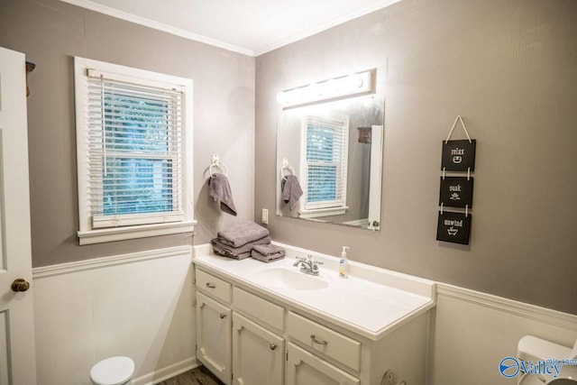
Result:
[[[182,180],[182,199],[184,218],[180,222],[132,225],[94,230],[90,216],[88,197],[88,167],[87,167],[87,105],[85,97],[85,79],[87,69],[98,69],[113,72],[120,76],[142,79],[142,84],[148,81],[169,83],[184,87],[185,111],[183,126],[184,170]],[[180,234],[194,232],[194,202],[193,202],[193,130],[192,130],[192,87],[191,79],[151,72],[143,69],[133,69],[104,61],[74,58],[75,101],[76,101],[76,133],[77,133],[77,164],[78,164],[78,241],[81,245],[105,243],[125,239],[144,238],[149,236]]]

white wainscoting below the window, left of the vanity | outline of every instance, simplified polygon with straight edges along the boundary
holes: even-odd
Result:
[[[39,385],[88,385],[96,362],[131,357],[134,384],[198,365],[192,247],[35,268]]]

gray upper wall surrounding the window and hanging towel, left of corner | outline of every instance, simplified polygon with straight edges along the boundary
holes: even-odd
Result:
[[[33,266],[207,243],[222,227],[252,219],[253,58],[56,0],[0,1],[0,46],[37,65],[28,98]],[[74,56],[193,79],[196,235],[78,246]],[[208,198],[212,153],[228,167],[236,218]]]

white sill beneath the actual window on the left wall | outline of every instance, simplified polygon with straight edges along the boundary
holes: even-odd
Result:
[[[125,239],[146,238],[149,236],[192,233],[197,221],[177,222],[156,225],[137,225],[108,229],[78,231],[80,245],[123,241]]]

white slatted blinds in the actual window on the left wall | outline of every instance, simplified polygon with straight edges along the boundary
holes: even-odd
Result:
[[[180,90],[89,70],[93,228],[182,221]]]

